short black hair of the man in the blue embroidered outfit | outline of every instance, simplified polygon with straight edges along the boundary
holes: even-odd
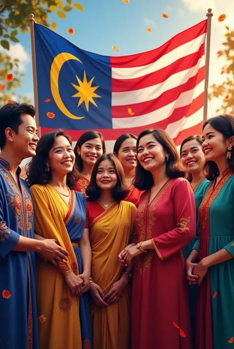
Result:
[[[36,108],[27,103],[11,101],[0,108],[0,149],[2,150],[6,143],[5,130],[9,127],[16,134],[19,132],[19,126],[23,123],[22,114],[29,114],[32,117],[36,115]]]

